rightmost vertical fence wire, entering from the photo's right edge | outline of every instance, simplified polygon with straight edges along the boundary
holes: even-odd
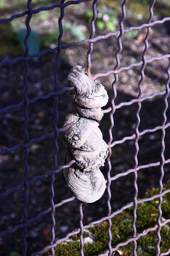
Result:
[[[170,61],[170,59],[169,59],[169,61]],[[168,68],[167,68],[167,74],[168,74],[168,79],[167,79],[166,84],[165,84],[165,86],[166,86],[166,95],[165,95],[165,98],[164,98],[165,107],[164,107],[164,110],[163,110],[164,120],[163,120],[162,126],[165,126],[166,120],[167,120],[167,117],[166,117],[166,110],[168,108],[167,98],[168,98],[169,93],[170,93],[170,89],[169,89],[170,63],[169,63]],[[165,164],[165,157],[164,157],[165,129],[162,129],[161,144],[162,144],[162,148],[161,148],[161,166],[160,166],[161,175],[160,175],[160,178],[159,178],[159,194],[162,193],[162,190],[163,190],[162,180],[163,180],[163,177],[164,177],[164,164]],[[158,215],[158,218],[157,218],[157,222],[158,222],[158,229],[157,229],[158,242],[157,242],[157,254],[156,254],[156,256],[159,256],[159,254],[160,254],[160,242],[161,242],[160,230],[161,230],[161,216],[162,216],[161,204],[162,204],[162,196],[159,198],[159,204],[158,204],[158,211],[159,211],[159,215]]]

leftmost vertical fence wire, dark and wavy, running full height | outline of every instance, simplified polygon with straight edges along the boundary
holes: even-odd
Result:
[[[31,28],[30,28],[30,20],[32,17],[32,7],[31,7],[31,1],[32,0],[28,0],[27,1],[27,8],[28,8],[28,15],[26,17],[26,36],[24,38],[24,46],[25,46],[25,52],[24,52],[24,56],[28,56],[28,52],[29,52],[29,45],[28,45],[28,38],[30,36],[31,33]],[[23,80],[24,80],[24,84],[25,84],[25,88],[24,88],[24,117],[25,117],[25,122],[24,122],[24,132],[25,132],[25,138],[24,138],[24,142],[23,143],[27,143],[28,142],[28,105],[29,105],[29,99],[28,99],[28,87],[29,87],[29,82],[27,79],[27,73],[29,70],[29,64],[28,61],[25,60],[24,61],[24,65],[25,65],[25,69],[24,69],[24,73],[23,73]],[[29,170],[29,165],[28,165],[28,155],[29,155],[29,149],[26,147],[25,148],[25,156],[24,156],[24,166],[25,166],[25,172],[24,172],[24,205],[23,205],[23,212],[24,212],[24,218],[23,218],[23,223],[27,222],[28,219],[28,212],[27,212],[27,204],[28,204],[28,179],[27,179],[27,174],[28,174],[28,170]],[[23,256],[26,256],[26,252],[27,252],[27,242],[26,242],[26,236],[27,236],[27,227],[24,228],[24,232],[23,232]]]

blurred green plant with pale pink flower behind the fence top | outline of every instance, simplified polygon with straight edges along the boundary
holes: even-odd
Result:
[[[88,22],[90,22],[93,16],[92,10],[87,11],[85,16],[88,19]],[[100,30],[106,28],[108,31],[114,31],[118,23],[117,15],[111,9],[107,8],[106,5],[99,5],[98,15],[95,22],[97,28]]]

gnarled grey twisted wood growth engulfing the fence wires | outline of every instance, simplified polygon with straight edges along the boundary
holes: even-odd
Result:
[[[71,193],[80,201],[92,203],[104,193],[106,181],[100,172],[108,154],[108,146],[103,140],[99,123],[103,116],[101,107],[108,101],[107,92],[102,84],[93,81],[85,69],[75,66],[68,76],[70,91],[78,110],[66,116],[63,143],[66,147],[66,163],[76,163],[63,170],[64,179]]]

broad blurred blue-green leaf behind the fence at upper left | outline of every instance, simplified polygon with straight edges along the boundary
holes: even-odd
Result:
[[[24,37],[26,36],[26,28],[19,28],[18,30],[15,31],[15,34],[17,36],[19,44],[23,47],[25,50],[24,46]],[[40,52],[40,36],[37,31],[31,30],[30,36],[28,37],[28,45],[29,45],[29,52],[28,54],[33,54],[33,53],[39,53]],[[34,57],[34,61],[38,61],[39,57]]]

